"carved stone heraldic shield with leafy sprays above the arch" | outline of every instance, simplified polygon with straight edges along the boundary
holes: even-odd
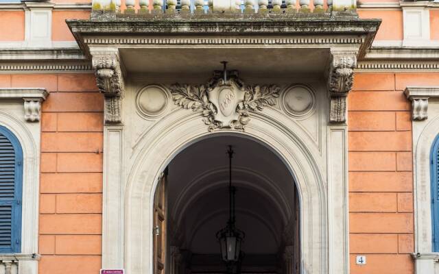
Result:
[[[203,121],[211,132],[222,128],[244,130],[250,121],[249,112],[275,105],[281,88],[276,85],[246,86],[237,77],[237,71],[226,71],[224,64],[224,71],[215,71],[206,85],[174,84],[170,90],[176,105],[202,112]]]

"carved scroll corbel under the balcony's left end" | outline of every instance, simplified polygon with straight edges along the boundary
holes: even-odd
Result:
[[[115,52],[93,54],[96,84],[105,97],[105,123],[121,123],[123,77],[119,54]]]

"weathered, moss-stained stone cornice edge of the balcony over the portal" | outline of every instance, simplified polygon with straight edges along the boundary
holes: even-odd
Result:
[[[198,18],[163,16],[114,18],[108,21],[67,20],[73,36],[86,52],[89,44],[108,42],[113,45],[175,42],[178,44],[180,39],[198,45],[210,45],[221,41],[240,45],[254,43],[253,38],[264,38],[270,40],[268,44],[285,45],[307,44],[309,38],[311,43],[361,45],[360,56],[370,47],[380,23],[378,19],[359,19],[352,15],[331,17],[330,14],[278,15],[270,18],[213,14],[211,17]],[[217,37],[218,34],[231,37],[227,40]],[[248,39],[250,36],[252,39]],[[215,39],[219,42],[215,42]],[[261,40],[261,43],[267,44],[264,40]]]

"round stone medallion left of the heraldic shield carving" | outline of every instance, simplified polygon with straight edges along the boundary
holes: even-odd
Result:
[[[158,86],[147,86],[137,95],[137,107],[146,116],[158,116],[166,109],[168,97]]]

